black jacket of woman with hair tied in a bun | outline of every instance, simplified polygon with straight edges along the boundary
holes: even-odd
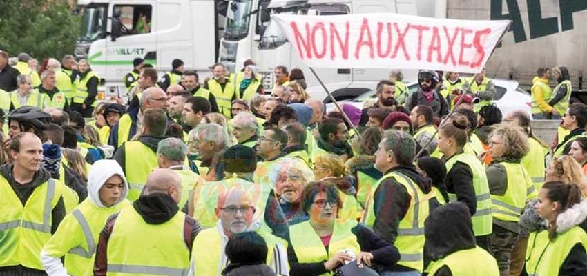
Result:
[[[455,155],[459,155],[457,152]],[[443,161],[448,161],[452,157],[443,157]],[[468,164],[456,161],[454,166],[446,173],[444,183],[446,184],[447,193],[456,195],[456,200],[467,204],[469,212],[474,215],[477,212],[477,195],[473,188],[473,172]]]

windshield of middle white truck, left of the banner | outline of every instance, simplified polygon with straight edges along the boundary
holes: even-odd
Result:
[[[252,0],[231,1],[227,10],[227,28],[224,30],[224,39],[239,40],[247,37],[251,6],[253,6]]]

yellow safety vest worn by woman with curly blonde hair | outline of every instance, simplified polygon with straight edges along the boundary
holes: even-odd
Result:
[[[519,163],[500,162],[506,168],[508,188],[504,195],[491,195],[491,215],[501,221],[520,221],[526,199],[537,197],[528,172]]]

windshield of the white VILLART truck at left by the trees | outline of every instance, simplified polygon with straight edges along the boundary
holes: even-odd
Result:
[[[86,6],[82,8],[81,32],[79,41],[95,41],[106,37],[106,6]]]

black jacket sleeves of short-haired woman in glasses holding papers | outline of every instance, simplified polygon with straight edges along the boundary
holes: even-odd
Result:
[[[393,266],[399,261],[400,254],[398,249],[392,244],[385,242],[384,239],[381,239],[381,237],[373,233],[369,228],[358,224],[352,228],[351,231],[356,236],[360,250],[373,254],[372,264],[374,263],[375,266]],[[291,242],[289,242],[289,246],[287,246],[287,259],[289,259],[289,275],[291,276],[317,276],[327,273],[326,268],[324,267],[324,262],[326,262],[327,259],[322,262],[299,263],[296,251],[291,246]]]

